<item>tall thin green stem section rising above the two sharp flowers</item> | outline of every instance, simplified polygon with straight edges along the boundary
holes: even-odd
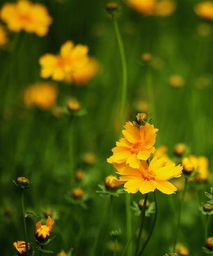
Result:
[[[113,22],[114,22],[114,31],[116,33],[116,38],[118,41],[118,49],[120,51],[120,58],[122,60],[122,99],[121,99],[121,106],[120,106],[120,127],[121,127],[120,130],[122,131],[123,124],[125,122],[125,107],[127,104],[127,61],[125,58],[125,51],[123,47],[122,36],[120,35],[118,22],[114,15],[113,15]]]

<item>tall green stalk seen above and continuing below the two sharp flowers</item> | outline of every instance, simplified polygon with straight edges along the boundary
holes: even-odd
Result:
[[[120,29],[118,28],[118,22],[114,13],[112,14],[114,31],[116,33],[116,38],[118,41],[118,48],[120,51],[120,57],[122,60],[122,99],[120,105],[120,134],[122,133],[123,124],[125,122],[125,108],[127,104],[127,61],[125,58],[125,51],[123,46],[122,36],[120,34]],[[131,211],[130,211],[130,195],[125,195],[125,205],[126,205],[126,221],[127,221],[127,241],[130,239],[132,234],[132,223],[131,223]],[[132,246],[129,246],[127,255],[132,256]]]

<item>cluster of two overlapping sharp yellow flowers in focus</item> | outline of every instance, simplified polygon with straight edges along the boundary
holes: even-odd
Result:
[[[125,124],[122,131],[124,138],[116,142],[113,148],[113,156],[107,159],[114,164],[121,184],[124,184],[127,193],[142,194],[159,189],[162,193],[174,193],[177,188],[168,180],[180,177],[182,166],[168,157],[154,156],[148,164],[148,159],[155,152],[155,138],[158,129],[154,125],[145,123],[136,125],[132,122]]]

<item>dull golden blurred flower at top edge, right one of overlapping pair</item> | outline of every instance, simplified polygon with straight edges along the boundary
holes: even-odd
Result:
[[[157,1],[155,4],[154,14],[157,16],[168,16],[175,12],[176,4],[171,0]]]

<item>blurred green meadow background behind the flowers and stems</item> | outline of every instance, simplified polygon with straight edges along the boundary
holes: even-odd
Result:
[[[1,5],[4,4],[1,0]],[[0,52],[1,109],[1,255],[13,255],[12,243],[24,239],[20,214],[20,193],[12,182],[19,176],[28,177],[31,186],[26,191],[26,209],[38,215],[51,209],[56,224],[56,239],[47,248],[54,255],[74,248],[74,255],[91,255],[97,230],[109,203],[95,191],[104,177],[114,173],[106,163],[111,148],[118,139],[122,66],[113,22],[106,13],[107,1],[67,0],[36,1],[45,4],[53,17],[47,36],[10,33],[10,43]],[[179,0],[177,10],[169,17],[145,17],[125,2],[118,1],[118,24],[123,36],[128,67],[127,120],[138,113],[138,101],[150,102],[146,66],[141,54],[150,52],[154,88],[154,124],[159,128],[157,145],[167,145],[172,153],[175,143],[184,142],[196,155],[209,157],[213,146],[213,24],[201,20],[193,10],[198,1]],[[203,30],[204,29],[204,30]],[[204,32],[203,32],[204,31]],[[202,33],[203,32],[203,33]],[[56,118],[51,111],[26,109],[22,101],[24,89],[39,81],[38,59],[46,52],[56,53],[67,40],[90,47],[101,68],[86,86],[78,88],[58,83],[58,105],[75,96],[87,113],[83,116]],[[170,77],[178,74],[184,86],[174,88]],[[84,154],[95,154],[94,164],[86,164]],[[210,166],[211,167],[211,166]],[[75,181],[75,171],[83,169],[86,178]],[[191,184],[182,217],[180,242],[191,251],[203,255],[204,221],[198,204],[205,200],[204,191],[210,184]],[[69,204],[65,199],[72,188],[81,187],[88,195],[87,209]],[[196,190],[200,195],[197,198]],[[178,196],[157,194],[159,216],[154,236],[145,255],[164,255],[173,242],[177,220]],[[113,198],[111,228],[122,228],[118,242],[126,243],[124,195]],[[137,201],[141,194],[132,195]],[[150,196],[152,200],[152,196]],[[109,209],[107,210],[109,211]],[[28,233],[33,241],[35,218],[28,218]],[[109,213],[99,234],[94,255],[113,255],[107,234]],[[146,223],[147,224],[147,223]],[[132,212],[132,227],[139,218]],[[212,225],[211,225],[212,227]],[[148,227],[146,227],[148,230]],[[209,229],[211,230],[211,228]],[[210,234],[212,235],[212,234]],[[35,240],[34,240],[35,241]],[[14,253],[15,255],[15,253]],[[121,252],[118,252],[121,255]]]

